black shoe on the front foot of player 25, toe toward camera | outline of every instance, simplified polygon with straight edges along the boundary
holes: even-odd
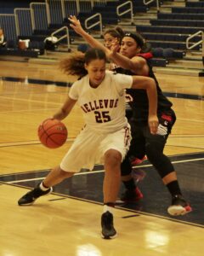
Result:
[[[113,225],[113,215],[111,212],[104,212],[101,216],[101,236],[104,239],[111,239],[117,236],[116,230]]]

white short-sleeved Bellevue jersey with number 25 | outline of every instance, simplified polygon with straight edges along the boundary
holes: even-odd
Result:
[[[106,71],[97,88],[90,86],[86,75],[72,84],[69,96],[77,100],[86,125],[94,131],[114,132],[127,125],[125,89],[132,84],[132,76]]]

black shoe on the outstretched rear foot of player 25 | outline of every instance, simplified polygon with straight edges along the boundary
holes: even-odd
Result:
[[[37,200],[38,197],[42,195],[49,195],[52,191],[52,187],[46,191],[42,191],[42,189],[40,189],[38,185],[37,188],[32,189],[31,191],[27,192],[26,195],[23,195],[18,201],[18,204],[19,206],[30,206],[34,203],[34,201]]]

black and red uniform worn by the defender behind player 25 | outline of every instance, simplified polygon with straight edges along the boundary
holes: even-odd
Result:
[[[137,157],[142,159],[146,154],[148,160],[155,166],[161,177],[165,177],[168,173],[174,171],[171,161],[163,154],[163,148],[167,143],[167,137],[171,133],[176,116],[172,109],[173,103],[162,94],[161,88],[152,71],[150,53],[140,54],[140,56],[144,57],[149,66],[149,77],[156,81],[159,126],[157,134],[152,135],[148,126],[149,105],[146,90],[128,89],[127,98],[129,100],[131,99],[128,104],[132,110],[131,118],[128,121],[131,125],[133,140],[126,159],[122,162],[122,175],[127,175],[132,171],[130,158]],[[131,71],[122,69],[121,67],[116,68],[116,72],[135,75]],[[130,116],[129,113],[128,116]]]

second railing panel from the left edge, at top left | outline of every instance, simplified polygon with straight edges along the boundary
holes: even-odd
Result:
[[[15,27],[18,36],[31,36],[31,9],[28,8],[15,8]]]

